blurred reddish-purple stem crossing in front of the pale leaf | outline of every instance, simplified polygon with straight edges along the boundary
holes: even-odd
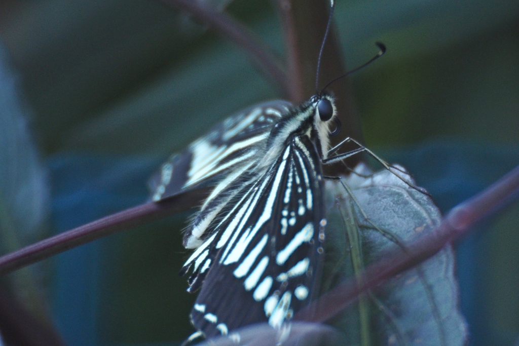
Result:
[[[434,256],[446,244],[464,236],[475,224],[518,197],[519,166],[478,195],[455,206],[438,228],[409,243],[406,253],[397,250],[383,256],[368,266],[358,280],[346,280],[307,308],[299,310],[294,319],[313,322],[330,320],[353,302],[361,292],[380,285],[394,275]]]

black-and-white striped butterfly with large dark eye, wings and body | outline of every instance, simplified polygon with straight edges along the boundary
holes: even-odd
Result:
[[[326,225],[321,164],[334,116],[327,94],[298,107],[252,107],[157,175],[155,195],[213,186],[184,234],[195,251],[181,270],[193,271],[188,292],[200,289],[191,318],[204,335],[258,322],[279,327],[317,293]],[[189,167],[180,165],[186,157]],[[184,179],[169,186],[181,167]]]

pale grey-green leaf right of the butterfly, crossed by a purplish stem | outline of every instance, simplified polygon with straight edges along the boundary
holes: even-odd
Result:
[[[323,290],[389,250],[431,232],[441,215],[401,167],[372,174],[360,164],[342,181],[326,182],[327,249]],[[451,246],[359,297],[334,321],[348,344],[463,345]]]

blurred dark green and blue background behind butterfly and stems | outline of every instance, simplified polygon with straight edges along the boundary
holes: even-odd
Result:
[[[228,11],[283,53],[270,2]],[[374,41],[388,47],[350,79],[365,142],[403,163],[443,212],[519,163],[519,2],[338,1],[334,22],[350,68]],[[3,1],[0,45],[47,171],[51,233],[143,202],[170,153],[279,97],[238,47],[156,1]],[[518,212],[458,246],[473,345],[519,335]],[[192,333],[195,297],[176,275],[187,215],[47,261],[41,299],[65,341],[155,345]]]

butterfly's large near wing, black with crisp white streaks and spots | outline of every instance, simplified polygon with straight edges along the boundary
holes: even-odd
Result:
[[[198,330],[214,336],[258,322],[277,327],[311,300],[323,256],[322,191],[315,146],[306,135],[291,137],[183,268],[194,267],[190,290],[203,281],[191,313]]]

